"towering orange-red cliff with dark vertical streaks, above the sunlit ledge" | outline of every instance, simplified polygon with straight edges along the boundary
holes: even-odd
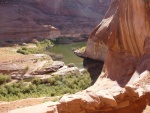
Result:
[[[139,72],[140,60],[149,53],[148,5],[149,1],[143,0],[114,0],[87,44],[85,54],[92,59],[106,58],[108,76],[123,84],[128,82],[124,76],[130,78],[135,70]]]

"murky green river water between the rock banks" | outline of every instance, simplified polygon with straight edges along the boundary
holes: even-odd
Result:
[[[50,49],[51,52],[56,54],[62,54],[63,59],[62,61],[65,62],[65,64],[74,63],[77,67],[82,68],[83,67],[83,59],[77,57],[73,50],[86,46],[86,42],[77,42],[73,44],[57,44],[54,45],[53,48]]]

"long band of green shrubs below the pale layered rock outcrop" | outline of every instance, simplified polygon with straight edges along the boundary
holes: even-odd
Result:
[[[31,97],[72,94],[86,89],[90,84],[91,78],[88,73],[55,76],[47,80],[35,78],[31,84],[20,81],[9,85],[1,85],[0,100],[12,101]]]

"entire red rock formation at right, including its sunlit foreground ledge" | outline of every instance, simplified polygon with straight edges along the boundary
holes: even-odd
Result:
[[[104,61],[95,84],[50,113],[142,113],[150,101],[150,1],[113,0],[84,55]],[[140,18],[140,19],[139,19]]]

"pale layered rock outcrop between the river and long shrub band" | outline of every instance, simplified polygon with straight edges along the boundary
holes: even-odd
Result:
[[[0,60],[0,73],[11,76],[12,80],[40,78],[44,82],[55,76],[84,74],[87,72],[85,69],[79,69],[73,63],[65,65],[62,61],[53,61],[46,54],[13,54],[14,56],[11,53],[12,57],[5,61],[0,57],[2,59]],[[14,57],[18,58],[15,59]]]

